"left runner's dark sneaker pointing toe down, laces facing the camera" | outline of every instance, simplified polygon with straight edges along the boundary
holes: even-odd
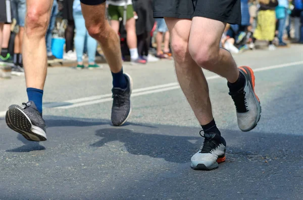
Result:
[[[113,88],[113,107],[112,107],[112,123],[115,126],[123,125],[130,116],[131,103],[130,95],[132,91],[133,81],[128,74],[124,74],[127,80],[125,89]]]

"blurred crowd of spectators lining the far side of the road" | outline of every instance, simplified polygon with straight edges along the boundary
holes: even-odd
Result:
[[[275,50],[290,41],[303,43],[303,0],[240,0],[241,25],[227,24],[221,47],[232,53],[258,48],[258,41]],[[170,59],[170,35],[164,19],[153,18],[153,0],[108,0],[107,16],[120,35],[124,60],[144,64]],[[22,64],[22,36],[26,0],[11,0],[12,22],[1,24],[3,35],[0,62],[13,63],[15,75],[24,73]],[[96,57],[102,56],[97,42],[88,35],[81,12],[80,0],[54,0],[45,33],[47,59],[61,58],[54,53],[54,38],[64,38],[64,60],[77,61],[83,69],[99,68]]]

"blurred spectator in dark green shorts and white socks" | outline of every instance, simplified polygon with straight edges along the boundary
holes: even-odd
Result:
[[[139,57],[137,48],[136,21],[131,0],[108,0],[108,13],[111,19],[111,26],[118,34],[120,20],[126,20],[126,42],[132,62],[145,64],[146,60]],[[151,9],[151,8],[150,8]],[[125,19],[126,18],[126,19]]]

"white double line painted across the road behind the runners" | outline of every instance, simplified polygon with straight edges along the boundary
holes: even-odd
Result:
[[[303,61],[271,65],[271,66],[266,66],[264,68],[257,68],[257,69],[254,69],[254,72],[262,72],[262,71],[267,71],[267,70],[286,68],[288,66],[295,66],[295,65],[299,65],[299,64],[303,64]],[[213,80],[213,79],[218,79],[218,78],[220,78],[220,76],[216,75],[216,76],[207,77],[207,80]],[[180,88],[180,86],[176,82],[157,85],[157,86],[150,86],[150,87],[145,87],[145,88],[139,88],[139,89],[134,89],[132,91],[132,97],[142,96],[142,95],[146,95],[146,94],[155,94],[155,93],[165,92],[165,91],[169,91],[169,90],[175,90],[175,89],[179,89],[179,88]],[[63,101],[63,102],[44,104],[43,107],[46,107],[46,108],[55,107],[58,109],[69,109],[69,108],[75,108],[75,107],[79,107],[79,106],[92,105],[92,104],[112,101],[111,96],[112,96],[112,94],[96,95],[96,96],[72,99],[72,100]],[[71,105],[68,105],[68,104],[71,104]],[[5,114],[6,114],[6,111],[0,112],[0,117],[5,116]]]

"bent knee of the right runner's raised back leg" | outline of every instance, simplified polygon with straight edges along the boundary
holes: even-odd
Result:
[[[210,71],[219,59],[219,47],[216,45],[189,45],[189,53],[201,68]]]

